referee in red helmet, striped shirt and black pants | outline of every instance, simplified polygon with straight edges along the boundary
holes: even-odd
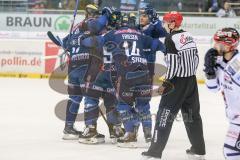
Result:
[[[143,159],[162,157],[167,144],[174,118],[181,110],[188,138],[191,143],[187,150],[189,159],[204,160],[205,142],[196,70],[199,63],[196,43],[190,33],[179,29],[183,17],[178,12],[166,13],[163,17],[164,28],[169,35],[165,39],[167,62],[166,81],[174,85],[174,90],[162,96],[154,136]]]

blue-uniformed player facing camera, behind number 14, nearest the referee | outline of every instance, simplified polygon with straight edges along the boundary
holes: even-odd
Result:
[[[156,12],[156,10],[151,6],[146,6],[140,10],[140,24],[139,29],[143,31],[147,36],[150,36],[154,39],[163,38],[167,35],[166,30],[162,26],[162,22],[159,20],[159,16]],[[160,42],[161,47],[160,50],[164,52],[165,47]],[[151,52],[151,51],[150,51]],[[156,53],[146,53],[146,58],[148,61],[148,68],[150,71],[150,77],[154,76],[154,68],[155,68],[155,61],[156,61]],[[147,102],[146,102],[147,103]],[[150,112],[150,104],[144,104],[141,102],[141,100],[136,102],[136,106],[141,105],[149,105],[149,110],[146,111],[148,113],[148,116],[145,118],[142,118],[142,126],[143,126],[143,133],[145,137],[146,142],[151,142],[152,138],[152,118],[151,118],[151,112]]]

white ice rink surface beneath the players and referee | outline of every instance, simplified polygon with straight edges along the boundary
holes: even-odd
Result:
[[[102,118],[98,130],[106,135],[105,144],[63,141],[64,122],[55,116],[54,108],[66,95],[53,91],[48,80],[1,78],[0,82],[0,160],[139,160],[146,150],[112,145]],[[224,160],[222,146],[228,124],[222,97],[208,92],[204,85],[199,85],[199,92],[207,160]],[[151,101],[153,112],[159,101],[160,97]],[[77,123],[77,128],[83,127]],[[139,134],[143,143],[141,130]],[[189,147],[183,122],[175,122],[163,159],[186,160]]]

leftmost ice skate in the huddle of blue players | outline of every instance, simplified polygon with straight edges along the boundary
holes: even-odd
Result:
[[[82,132],[77,131],[72,126],[66,126],[63,130],[63,137],[64,140],[78,140],[79,135],[82,134]]]

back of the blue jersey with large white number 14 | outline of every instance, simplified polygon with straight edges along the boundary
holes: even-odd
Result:
[[[105,46],[114,60],[124,56],[128,63],[147,64],[145,51],[151,49],[151,40],[140,30],[122,27],[105,35]]]

